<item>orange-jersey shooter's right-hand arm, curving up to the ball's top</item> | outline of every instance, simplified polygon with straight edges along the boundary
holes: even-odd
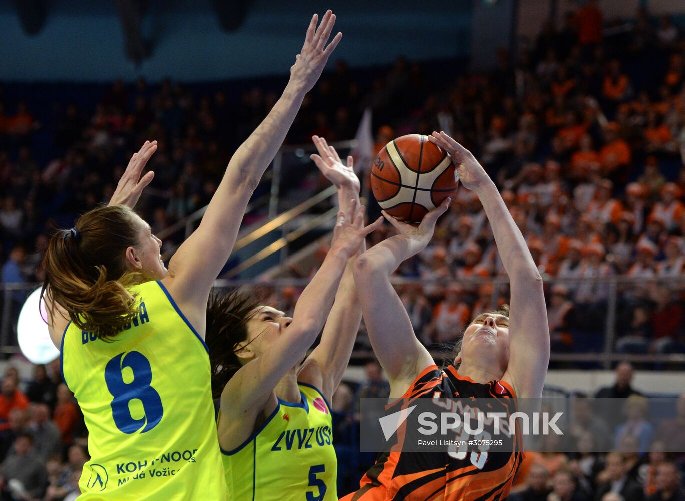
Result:
[[[473,154],[445,132],[433,132],[429,139],[447,151],[458,165],[462,185],[480,199],[509,275],[510,355],[503,379],[512,384],[518,397],[541,397],[549,365],[549,323],[540,272],[495,183]]]

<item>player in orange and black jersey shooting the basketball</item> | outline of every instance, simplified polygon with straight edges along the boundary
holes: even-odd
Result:
[[[429,212],[418,227],[385,217],[399,232],[357,258],[354,277],[373,351],[390,380],[390,397],[490,397],[510,408],[516,397],[541,397],[549,362],[549,327],[543,281],[506,205],[473,154],[444,132],[429,138],[446,150],[466,189],[477,194],[493,228],[511,281],[511,310],[482,313],[466,327],[460,349],[446,369],[436,366],[412,329],[390,284],[402,261],[423,250],[449,205]],[[469,447],[471,449],[471,447]],[[474,451],[477,452],[477,451]],[[402,452],[401,443],[377,461],[345,501],[503,500],[523,454]],[[478,461],[475,461],[478,458]]]

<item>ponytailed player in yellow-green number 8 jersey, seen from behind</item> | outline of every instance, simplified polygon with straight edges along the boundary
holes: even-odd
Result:
[[[160,244],[133,207],[152,178],[145,143],[110,207],[51,237],[44,284],[64,380],[82,409],[90,461],[83,500],[224,500],[221,453],[204,344],[212,283],[232,250],[247,202],[340,34],[325,47],[327,12],[290,69],[269,115],[236,151],[195,233],[164,268]],[[123,205],[117,205],[123,204]]]

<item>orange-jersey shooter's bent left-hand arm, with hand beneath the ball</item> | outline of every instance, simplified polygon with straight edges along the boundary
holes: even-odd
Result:
[[[364,323],[373,352],[388,375],[390,397],[401,397],[416,376],[434,363],[428,350],[416,339],[409,315],[390,283],[390,274],[402,261],[428,245],[438,218],[447,211],[450,202],[447,199],[430,211],[418,228],[383,212],[400,234],[366,250],[354,266]]]

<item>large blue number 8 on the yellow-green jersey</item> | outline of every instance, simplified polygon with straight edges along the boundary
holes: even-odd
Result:
[[[128,367],[133,373],[131,382],[124,382],[123,370]],[[105,365],[105,383],[112,399],[112,419],[116,428],[123,433],[132,434],[149,432],[162,420],[164,409],[160,394],[155,391],[152,382],[150,362],[138,351],[119,353]],[[143,417],[134,419],[129,409],[129,402],[137,399],[142,404]],[[142,428],[142,430],[140,429]]]

